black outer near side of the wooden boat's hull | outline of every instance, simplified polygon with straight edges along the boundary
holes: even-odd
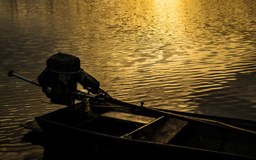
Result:
[[[200,148],[184,147],[172,144],[153,143],[150,141],[133,140],[130,138],[122,138],[120,134],[109,135],[105,132],[95,132],[95,129],[86,130],[71,125],[61,124],[47,119],[47,116],[36,117],[36,122],[40,125],[48,145],[45,151],[51,150],[58,156],[83,156],[83,154],[93,153],[96,156],[106,157],[170,157],[179,156],[186,157],[221,157],[232,159],[250,159],[250,156],[241,156],[237,154],[228,154],[224,152],[205,150]],[[122,123],[120,124],[120,126]],[[129,132],[130,125],[124,132]],[[91,127],[92,128],[92,127]],[[51,157],[52,157],[51,153]],[[100,153],[100,154],[99,154]]]

